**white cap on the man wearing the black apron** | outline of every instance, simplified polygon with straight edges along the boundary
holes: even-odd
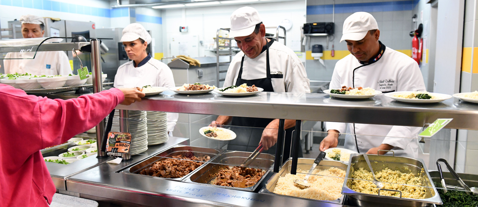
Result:
[[[229,38],[244,37],[252,34],[256,24],[261,23],[259,12],[252,7],[241,7],[231,14]]]

